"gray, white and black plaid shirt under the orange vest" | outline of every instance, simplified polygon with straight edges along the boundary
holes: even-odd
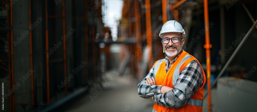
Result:
[[[177,57],[170,63],[168,56],[165,57],[166,73],[183,51],[184,50],[181,50]],[[186,105],[189,99],[202,86],[204,79],[199,63],[196,60],[192,60],[179,73],[179,78],[174,85],[174,88],[167,93],[161,94],[160,90],[163,85],[150,85],[145,83],[146,78],[153,77],[153,71],[154,67],[152,66],[147,76],[138,84],[138,94],[143,98],[154,96],[153,102],[166,108],[180,108]]]

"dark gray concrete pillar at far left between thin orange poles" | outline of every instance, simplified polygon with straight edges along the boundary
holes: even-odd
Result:
[[[13,43],[14,43],[14,92],[15,103],[31,103],[30,37],[29,37],[29,0],[13,3]],[[19,39],[17,39],[19,38]],[[18,43],[18,44],[17,44]],[[20,85],[20,86],[19,86]],[[32,109],[26,105],[25,110]],[[15,111],[23,111],[21,105],[15,105]]]

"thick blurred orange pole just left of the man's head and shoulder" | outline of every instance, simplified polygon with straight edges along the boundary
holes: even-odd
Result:
[[[153,65],[153,51],[152,51],[152,26],[151,26],[151,8],[150,8],[150,0],[145,4],[145,26],[146,26],[146,44],[150,48],[149,50],[149,59],[148,59],[148,69],[151,69]]]

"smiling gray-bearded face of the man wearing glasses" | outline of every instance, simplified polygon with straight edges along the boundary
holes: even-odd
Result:
[[[177,33],[167,33],[162,36],[163,38],[173,38],[173,37],[182,37],[181,34]],[[185,39],[181,39],[178,43],[172,43],[169,40],[169,43],[162,43],[164,52],[171,58],[175,58],[177,54],[182,50],[182,47],[185,43]]]

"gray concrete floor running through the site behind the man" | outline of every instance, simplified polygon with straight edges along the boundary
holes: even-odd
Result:
[[[66,110],[66,112],[151,112],[153,108],[152,99],[144,99],[137,94],[137,81],[129,76],[118,76],[112,82],[108,78],[112,77],[114,72],[108,72],[104,78],[103,85],[106,86],[99,95],[95,95],[97,90],[91,90],[89,94],[81,97],[75,104]],[[107,81],[106,81],[107,80]],[[212,100],[216,101],[216,89],[213,89]],[[92,100],[90,98],[92,96]],[[204,100],[203,111],[208,111],[208,98]],[[214,105],[215,108],[215,105]],[[216,109],[216,108],[215,108]],[[218,109],[217,109],[218,110]],[[217,110],[215,110],[217,112]]]

